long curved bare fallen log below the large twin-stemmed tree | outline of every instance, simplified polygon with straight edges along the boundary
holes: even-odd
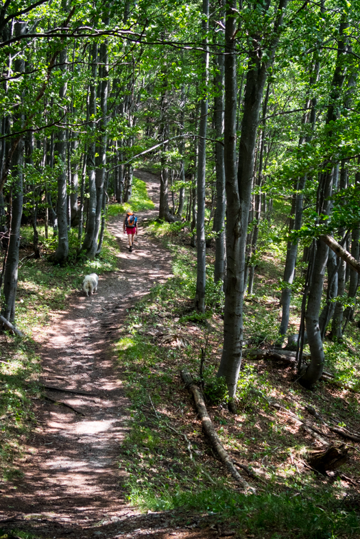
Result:
[[[224,466],[227,468],[232,478],[235,479],[235,481],[237,481],[237,483],[239,483],[245,490],[250,490],[251,492],[255,493],[256,490],[254,489],[254,487],[250,486],[248,484],[248,481],[245,481],[245,479],[241,477],[234,464],[232,463],[230,456],[222,446],[219,440],[219,436],[217,436],[217,433],[215,432],[215,429],[213,427],[213,423],[211,422],[211,418],[206,410],[206,405],[204,397],[202,396],[202,392],[194,383],[193,377],[191,376],[189,371],[187,371],[187,369],[181,371],[180,374],[182,377],[182,381],[184,381],[185,387],[187,388],[187,390],[189,390],[189,392],[193,394],[197,414],[200,416],[200,419],[202,421],[202,428],[204,429],[206,436],[210,440],[211,445],[215,450],[215,453],[217,454],[221,462],[224,464]]]

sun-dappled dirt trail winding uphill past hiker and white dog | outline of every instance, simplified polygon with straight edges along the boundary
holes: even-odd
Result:
[[[156,206],[138,214],[139,242],[134,251],[128,252],[123,216],[112,218],[108,228],[119,242],[118,271],[102,275],[93,296],[75,293],[69,309],[53,314],[51,324],[35,335],[43,384],[91,393],[46,390],[51,399],[84,415],[49,400],[34,402],[37,427],[19,462],[23,477],[1,488],[0,521],[14,518],[10,527],[35,529],[41,537],[114,537],[119,523],[126,521],[125,527],[139,531],[147,525],[138,520],[150,518],[126,505],[121,492],[123,472],[117,459],[130,403],[121,386],[114,343],[126,309],[170,277],[171,260],[169,252],[141,227],[143,218],[158,214],[158,179],[142,171],[136,175],[146,181]],[[94,531],[99,524],[107,531],[99,527]],[[176,535],[182,537],[180,532]]]

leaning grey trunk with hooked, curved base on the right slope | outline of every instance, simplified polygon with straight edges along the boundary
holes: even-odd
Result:
[[[341,87],[345,79],[344,55],[346,54],[346,28],[347,21],[341,21],[339,27],[339,44],[337,49],[337,62],[332,81],[330,104],[326,116],[326,125],[337,120],[337,101],[341,92]],[[331,137],[331,132],[328,133]],[[319,216],[328,216],[331,208],[330,197],[333,190],[333,177],[335,167],[333,164],[324,163],[324,172],[320,178],[317,190],[317,214]],[[324,348],[322,347],[322,335],[319,325],[320,304],[322,299],[322,290],[324,287],[324,273],[328,261],[328,246],[321,239],[316,242],[316,256],[313,266],[312,282],[309,289],[309,301],[307,305],[307,314],[305,316],[307,325],[307,338],[311,353],[311,362],[307,366],[300,379],[300,384],[309,388],[322,375],[324,370]]]

